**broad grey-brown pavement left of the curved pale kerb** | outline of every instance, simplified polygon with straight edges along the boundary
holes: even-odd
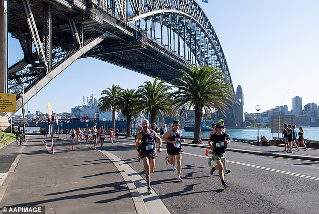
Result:
[[[46,213],[136,213],[121,173],[102,153],[84,144],[56,141],[52,155],[42,136],[27,139],[25,146],[10,144],[0,150],[6,163],[0,164],[0,170],[6,173],[24,149],[14,173],[0,186],[6,186],[0,207],[46,206]]]

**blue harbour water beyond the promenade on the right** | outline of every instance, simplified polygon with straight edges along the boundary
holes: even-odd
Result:
[[[299,131],[299,128],[296,128]],[[319,127],[304,127],[304,139],[319,140]],[[182,130],[183,131],[183,130]],[[230,138],[257,140],[257,128],[253,129],[227,129]],[[202,132],[202,138],[208,138],[210,132]],[[272,137],[282,137],[281,133],[271,133],[270,129],[259,129],[259,136],[265,135],[269,140]],[[194,137],[194,132],[183,132],[183,137]]]

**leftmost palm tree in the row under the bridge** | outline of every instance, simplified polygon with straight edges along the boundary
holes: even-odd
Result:
[[[101,95],[102,96],[99,99],[98,107],[101,112],[106,112],[109,109],[112,111],[112,127],[113,130],[115,129],[115,113],[117,110],[119,110],[119,107],[116,105],[116,100],[118,99],[120,92],[122,91],[122,88],[118,85],[112,85],[111,88],[107,88],[106,90],[103,90]]]

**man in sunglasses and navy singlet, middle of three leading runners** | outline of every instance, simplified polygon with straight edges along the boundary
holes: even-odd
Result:
[[[177,160],[177,178],[176,180],[182,182],[181,171],[182,171],[182,153],[181,153],[181,142],[184,142],[182,139],[182,131],[179,130],[180,121],[173,121],[173,129],[169,130],[167,133],[163,135],[163,140],[166,141],[168,145],[168,158],[170,164],[173,165],[174,158]]]

